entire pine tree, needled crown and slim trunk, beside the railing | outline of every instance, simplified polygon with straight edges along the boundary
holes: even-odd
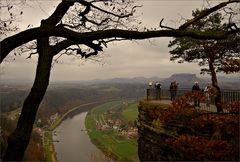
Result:
[[[201,12],[196,10],[193,16],[199,16]],[[216,31],[233,26],[231,22],[224,22],[221,13],[211,14],[192,24],[189,28],[202,31]],[[235,24],[234,24],[235,25]],[[169,47],[175,47],[170,51],[171,60],[178,60],[179,63],[198,62],[203,67],[201,73],[210,73],[212,86],[215,91],[215,105],[218,112],[222,112],[221,90],[218,86],[216,72],[226,70],[224,63],[240,57],[240,35],[236,33],[224,40],[196,40],[189,37],[176,38],[171,41]],[[208,67],[206,67],[206,65]],[[231,64],[228,64],[231,65]],[[231,72],[237,72],[233,67]]]

